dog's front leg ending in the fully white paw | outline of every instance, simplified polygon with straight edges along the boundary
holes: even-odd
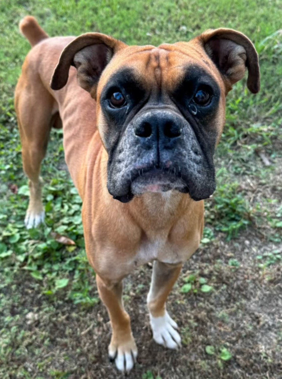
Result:
[[[181,338],[176,330],[177,324],[165,309],[167,296],[178,278],[181,267],[182,264],[169,265],[154,261],[151,286],[147,296],[153,338],[169,349],[181,346]]]

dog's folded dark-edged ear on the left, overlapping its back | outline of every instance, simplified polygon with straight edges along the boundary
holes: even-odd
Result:
[[[69,67],[74,66],[79,85],[95,96],[102,71],[113,55],[124,47],[126,44],[105,34],[82,34],[62,51],[51,79],[51,88],[63,88],[68,81]]]

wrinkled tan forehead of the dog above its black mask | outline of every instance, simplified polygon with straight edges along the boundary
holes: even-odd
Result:
[[[131,72],[134,79],[147,88],[165,87],[173,91],[184,78],[211,78],[223,86],[221,77],[210,58],[200,47],[188,43],[162,44],[159,47],[129,46],[118,52],[104,70],[99,81],[99,92],[111,81],[126,79]]]

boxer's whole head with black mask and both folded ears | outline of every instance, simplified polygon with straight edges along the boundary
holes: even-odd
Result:
[[[97,127],[109,157],[107,186],[115,199],[169,189],[194,200],[213,193],[225,96],[246,67],[250,91],[260,86],[257,52],[244,34],[207,30],[159,47],[83,34],[61,53],[52,89],[66,85],[71,65],[97,101]]]

